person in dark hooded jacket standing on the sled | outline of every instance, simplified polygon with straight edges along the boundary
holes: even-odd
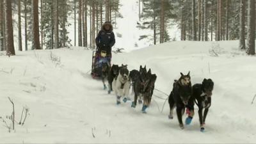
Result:
[[[113,26],[111,22],[105,22],[102,25],[97,37],[95,38],[95,43],[97,45],[97,56],[107,57],[109,63],[111,62],[111,51],[113,45],[115,45],[115,34],[113,33]]]

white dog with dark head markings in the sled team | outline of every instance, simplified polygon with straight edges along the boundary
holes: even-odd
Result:
[[[116,104],[121,104],[121,97],[124,97],[124,102],[129,99],[130,86],[129,70],[127,69],[127,65],[122,65],[117,78],[112,83],[113,90],[116,94]]]

